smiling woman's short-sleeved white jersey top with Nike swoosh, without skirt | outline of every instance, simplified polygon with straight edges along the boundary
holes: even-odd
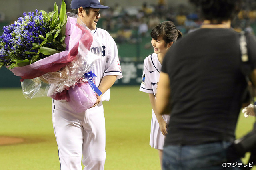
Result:
[[[140,91],[152,93],[156,96],[156,89],[159,81],[162,65],[157,58],[157,54],[153,53],[144,59],[142,82]]]

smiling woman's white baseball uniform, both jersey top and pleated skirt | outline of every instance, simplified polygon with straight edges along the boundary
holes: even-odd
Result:
[[[162,65],[158,60],[157,54],[153,53],[144,59],[143,75],[140,85],[140,91],[151,93],[156,96],[156,89],[160,77]],[[168,123],[170,116],[162,115],[164,121]],[[164,149],[164,135],[162,134],[159,123],[156,119],[154,110],[152,109],[151,129],[150,129],[150,146],[155,149]]]

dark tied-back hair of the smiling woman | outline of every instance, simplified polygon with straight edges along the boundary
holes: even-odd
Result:
[[[151,31],[150,35],[155,40],[161,36],[166,44],[175,42],[178,38],[182,37],[180,30],[177,30],[176,26],[171,21],[164,21],[158,24]]]

